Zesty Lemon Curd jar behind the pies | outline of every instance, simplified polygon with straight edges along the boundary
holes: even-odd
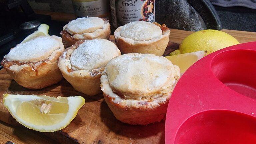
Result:
[[[76,17],[110,18],[108,0],[72,0]]]

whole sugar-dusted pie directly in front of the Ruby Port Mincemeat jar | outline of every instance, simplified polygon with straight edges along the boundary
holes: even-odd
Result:
[[[146,28],[144,26],[145,23],[149,25]],[[131,30],[131,36],[128,36],[128,37],[126,35],[122,36],[122,31],[129,30],[129,29],[124,29],[125,28],[125,25],[124,25],[124,26],[118,27],[114,32],[116,45],[120,49],[122,54],[133,53],[133,52],[142,53],[142,54],[149,53],[149,54],[155,54],[157,56],[162,56],[164,54],[164,51],[169,42],[169,35],[170,35],[169,29],[161,30],[159,26],[149,22],[144,22],[144,21],[132,22],[129,24],[135,25],[135,26],[140,25],[140,26],[137,26],[137,29],[140,29],[140,31]],[[158,30],[154,29],[155,26],[159,27],[159,29]],[[162,32],[162,34],[154,35],[154,33],[156,32],[159,33],[159,30]],[[132,38],[132,37],[141,36],[141,35],[148,35],[151,37],[146,37],[146,39],[144,40],[143,39],[138,40],[138,39]]]

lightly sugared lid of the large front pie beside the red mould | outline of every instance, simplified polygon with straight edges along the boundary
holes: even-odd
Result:
[[[150,93],[166,89],[179,73],[164,57],[136,53],[112,59],[105,70],[109,84],[118,91],[127,93]]]

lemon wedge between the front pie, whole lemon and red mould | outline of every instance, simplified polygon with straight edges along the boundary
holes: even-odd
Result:
[[[183,74],[191,65],[206,55],[206,51],[197,51],[173,56],[166,56],[174,65],[180,67],[180,73]]]

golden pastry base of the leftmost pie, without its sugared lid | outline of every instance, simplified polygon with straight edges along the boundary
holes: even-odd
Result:
[[[11,77],[28,89],[41,89],[58,83],[63,77],[58,67],[58,58],[64,50],[61,38],[51,36],[59,41],[60,49],[51,54],[51,59],[39,62],[18,63],[3,60],[1,64]],[[36,65],[36,68],[34,67]],[[12,66],[12,68],[10,68]]]

